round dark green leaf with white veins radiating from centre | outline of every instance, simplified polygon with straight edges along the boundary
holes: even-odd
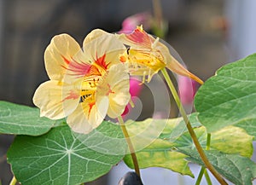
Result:
[[[109,136],[122,135],[118,125],[108,122],[103,122],[99,130]],[[90,136],[95,134],[93,131]],[[103,142],[101,137],[94,139]],[[87,147],[68,126],[55,127],[43,136],[16,136],[8,152],[15,177],[25,185],[90,182],[110,171],[123,157]]]

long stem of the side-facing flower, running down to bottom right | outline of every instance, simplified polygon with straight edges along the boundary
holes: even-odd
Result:
[[[222,185],[228,185],[227,182],[225,182],[224,178],[222,176],[220,176],[220,174],[218,173],[218,171],[215,170],[215,168],[212,166],[212,164],[210,163],[210,161],[207,159],[207,155],[206,153],[204,153],[200,143],[198,142],[198,139],[195,135],[195,131],[193,130],[190,122],[189,122],[189,119],[187,117],[187,113],[185,112],[184,108],[183,108],[183,105],[177,95],[177,91],[174,87],[174,85],[172,84],[172,80],[171,78],[169,77],[168,73],[166,72],[166,68],[163,68],[161,70],[164,78],[166,78],[166,83],[168,84],[171,92],[172,92],[172,95],[173,95],[173,98],[174,100],[176,101],[176,104],[177,104],[177,107],[184,119],[184,122],[186,123],[186,126],[187,126],[187,129],[189,130],[189,134],[195,144],[195,147],[201,157],[201,160],[203,161],[203,163],[206,165],[207,169],[209,171],[212,172],[212,175],[215,176],[215,178],[218,180],[218,182]]]

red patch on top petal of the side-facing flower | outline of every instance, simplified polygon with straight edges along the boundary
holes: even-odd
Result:
[[[126,35],[126,38],[133,43],[138,43],[149,48],[151,47],[151,40],[148,33],[139,28],[135,29],[131,34]]]

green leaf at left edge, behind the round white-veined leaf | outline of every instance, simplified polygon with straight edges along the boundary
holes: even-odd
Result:
[[[39,136],[48,132],[55,122],[41,118],[38,108],[0,101],[0,133]]]

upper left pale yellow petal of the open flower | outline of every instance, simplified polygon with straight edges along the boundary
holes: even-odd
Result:
[[[52,38],[44,52],[44,63],[49,78],[61,81],[68,63],[79,50],[79,43],[67,34]]]

